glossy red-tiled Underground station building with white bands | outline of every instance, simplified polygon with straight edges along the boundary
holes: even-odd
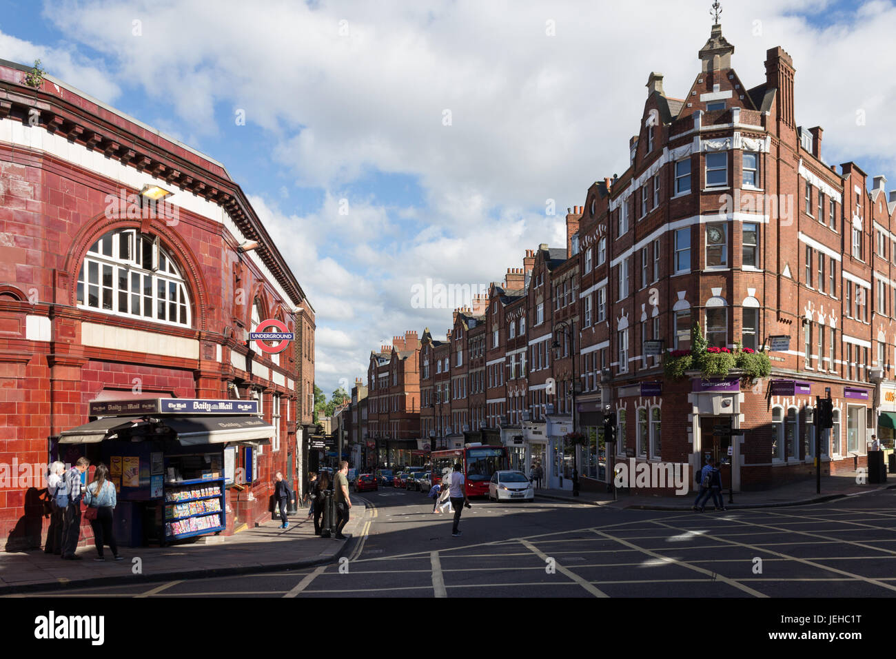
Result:
[[[299,466],[314,309],[223,165],[64,82],[30,87],[27,71],[0,63],[0,463],[76,456],[58,439],[91,401],[253,399],[271,445],[225,499],[227,533],[253,525],[273,473]],[[151,204],[148,186],[173,195]],[[246,342],[267,318],[306,350]],[[39,546],[39,487],[0,490],[0,543]]]

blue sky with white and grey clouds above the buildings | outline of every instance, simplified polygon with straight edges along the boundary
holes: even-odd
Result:
[[[444,337],[461,302],[420,306],[427,280],[478,290],[564,247],[566,208],[627,167],[650,72],[673,98],[700,73],[710,8],[0,0],[0,57],[39,58],[224,164],[316,312],[329,395],[392,336]],[[893,2],[728,0],[721,24],[747,87],[768,48],[793,57],[797,124],[823,126],[824,160],[896,186]]]

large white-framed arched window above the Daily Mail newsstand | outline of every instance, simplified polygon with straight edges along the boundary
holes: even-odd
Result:
[[[189,327],[184,278],[159,238],[135,229],[108,231],[84,256],[79,308]]]

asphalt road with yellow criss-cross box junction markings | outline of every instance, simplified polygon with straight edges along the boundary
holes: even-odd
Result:
[[[345,559],[318,568],[34,596],[885,597],[896,491],[696,513],[473,501],[461,537],[425,494],[379,490]],[[353,508],[358,510],[360,507]]]

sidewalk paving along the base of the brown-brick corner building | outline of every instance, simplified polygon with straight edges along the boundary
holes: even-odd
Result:
[[[838,473],[832,476],[822,477],[822,493],[815,491],[815,479],[798,481],[782,485],[772,490],[760,490],[752,492],[735,492],[734,503],[728,503],[728,490],[723,491],[725,506],[729,509],[736,508],[764,508],[780,506],[801,506],[811,503],[820,503],[832,499],[866,494],[878,490],[892,490],[896,488],[896,474],[888,474],[889,481],[880,484],[859,484],[856,482],[857,473],[854,471]],[[632,493],[629,493],[632,492]],[[609,506],[618,508],[634,508],[641,510],[690,510],[694,506],[697,497],[695,491],[682,496],[659,497],[635,494],[636,489],[620,489],[613,500],[613,493],[585,492],[573,497],[572,490],[535,490],[536,499],[555,499],[560,501],[573,501],[575,503],[590,504],[594,506]],[[707,502],[707,510],[712,507],[712,498]]]

